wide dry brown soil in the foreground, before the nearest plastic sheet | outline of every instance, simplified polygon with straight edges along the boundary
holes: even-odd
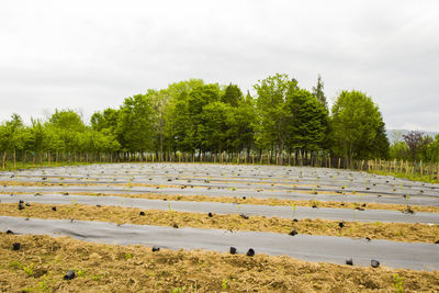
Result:
[[[0,291],[438,292],[439,272],[0,234]],[[12,245],[20,243],[14,251]],[[63,280],[68,270],[72,280]]]

